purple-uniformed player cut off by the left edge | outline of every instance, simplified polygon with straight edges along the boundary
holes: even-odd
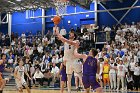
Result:
[[[1,59],[0,59],[0,73],[3,73],[4,71],[12,72],[12,69],[7,69],[5,68],[5,63],[6,63],[6,55],[1,54]],[[2,76],[3,77],[3,76]],[[2,80],[2,84],[0,86],[0,93],[3,92],[3,89],[5,87],[6,80]]]

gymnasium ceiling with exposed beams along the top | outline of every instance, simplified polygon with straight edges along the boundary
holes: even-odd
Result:
[[[75,2],[78,1],[94,1],[94,0],[69,0],[68,4],[76,5]],[[100,0],[108,1],[108,0]],[[122,1],[122,0],[119,0]],[[25,11],[28,9],[36,10],[38,8],[47,9],[49,7],[55,7],[53,0],[0,0],[0,13],[14,12],[14,11]]]

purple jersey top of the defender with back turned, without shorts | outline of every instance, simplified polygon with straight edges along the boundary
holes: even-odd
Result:
[[[83,65],[83,75],[96,76],[97,73],[97,59],[88,56]]]

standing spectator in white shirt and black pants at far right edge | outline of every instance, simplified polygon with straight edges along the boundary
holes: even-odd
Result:
[[[140,85],[140,67],[139,64],[136,63],[134,68],[134,87],[136,88],[136,90],[138,90],[139,85]]]

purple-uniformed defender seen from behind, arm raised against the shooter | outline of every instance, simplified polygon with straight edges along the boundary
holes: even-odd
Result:
[[[77,48],[78,48],[77,44]],[[86,93],[90,93],[90,86],[93,90],[96,90],[97,93],[103,93],[103,90],[100,84],[96,81],[96,73],[100,71],[100,63],[97,62],[95,56],[97,55],[96,49],[91,49],[89,55],[79,54],[77,48],[74,50],[74,55],[77,58],[82,58],[83,63],[83,85],[86,89]]]

